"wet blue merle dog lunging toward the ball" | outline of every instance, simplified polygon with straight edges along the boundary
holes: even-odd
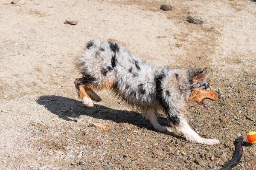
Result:
[[[190,102],[206,109],[204,99],[216,101],[207,68],[171,69],[136,57],[127,48],[108,40],[91,40],[76,58],[76,69],[82,77],[75,79],[79,98],[87,107],[102,99],[94,92],[111,91],[130,105],[137,106],[159,132],[171,132],[157,122],[156,113],[163,111],[189,142],[219,144],[219,140],[201,138],[189,126],[184,113]]]

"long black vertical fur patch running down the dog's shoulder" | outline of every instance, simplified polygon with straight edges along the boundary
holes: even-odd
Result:
[[[169,102],[166,101],[166,98],[164,97],[164,94],[163,94],[162,81],[164,78],[165,78],[165,74],[160,74],[155,77],[157,99],[162,105],[163,110],[165,111],[169,122],[172,122],[173,125],[178,125],[180,123],[180,119],[177,117],[177,115],[172,113]]]

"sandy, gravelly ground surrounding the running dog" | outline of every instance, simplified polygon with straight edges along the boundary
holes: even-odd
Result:
[[[0,169],[220,169],[244,136],[236,170],[256,169],[256,2],[250,0],[0,0]],[[169,3],[172,11],[160,10]],[[191,15],[204,24],[188,23]],[[78,20],[76,26],[65,20]],[[186,112],[208,146],[158,133],[109,91],[86,108],[73,85],[88,40],[116,40],[157,66],[207,67],[225,96]],[[159,118],[168,126],[165,116]],[[91,122],[108,125],[103,131]],[[171,128],[171,127],[170,127]]]

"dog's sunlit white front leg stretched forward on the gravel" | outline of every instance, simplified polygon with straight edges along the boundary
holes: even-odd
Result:
[[[196,133],[194,130],[192,130],[191,127],[189,127],[188,122],[186,119],[184,119],[182,116],[179,116],[179,124],[175,125],[176,129],[183,134],[186,137],[186,140],[189,142],[197,142],[197,143],[203,143],[203,144],[219,144],[220,141],[216,139],[205,139],[201,138],[198,133]]]

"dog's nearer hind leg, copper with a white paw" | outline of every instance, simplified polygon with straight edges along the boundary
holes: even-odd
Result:
[[[86,84],[84,84],[84,78],[75,79],[74,83],[76,86],[78,97],[82,99],[84,105],[88,107],[93,107],[93,101],[90,99],[90,96],[84,90],[84,88],[86,88]]]

